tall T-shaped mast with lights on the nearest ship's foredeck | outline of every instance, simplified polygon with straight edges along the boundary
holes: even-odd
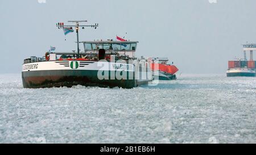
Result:
[[[93,27],[93,28],[97,28],[98,24],[94,24],[94,25],[80,25],[79,23],[82,22],[87,22],[87,20],[70,20],[68,21],[69,23],[76,23],[75,25],[64,25],[64,23],[57,23],[56,27],[61,29],[61,28],[76,28],[76,38],[77,38],[77,58],[80,58],[80,48],[79,48],[79,27],[82,27],[82,29],[84,29],[85,27]]]

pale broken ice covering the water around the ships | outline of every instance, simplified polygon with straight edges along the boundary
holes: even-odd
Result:
[[[256,78],[23,89],[0,75],[0,143],[256,143]]]

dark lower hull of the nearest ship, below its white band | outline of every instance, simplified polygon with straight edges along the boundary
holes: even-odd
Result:
[[[108,72],[108,71],[107,71]],[[143,83],[134,79],[99,79],[96,70],[42,70],[22,72],[24,88],[99,86],[133,88]],[[128,73],[134,74],[134,73]],[[110,72],[109,72],[110,75]]]

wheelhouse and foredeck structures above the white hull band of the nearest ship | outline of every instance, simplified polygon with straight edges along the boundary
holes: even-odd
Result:
[[[67,60],[87,60],[98,61],[105,59],[110,61],[110,56],[115,56],[115,60],[130,60],[135,58],[138,41],[82,41],[84,51],[80,51],[80,58],[77,52],[47,52],[46,56],[27,58],[24,64],[42,61],[67,61]]]

